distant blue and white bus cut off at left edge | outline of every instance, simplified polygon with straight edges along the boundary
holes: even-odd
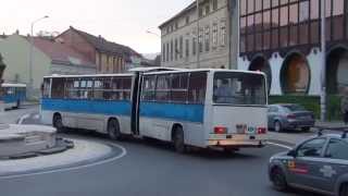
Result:
[[[3,83],[1,88],[0,100],[4,103],[5,109],[20,108],[21,103],[26,100],[25,84]]]

